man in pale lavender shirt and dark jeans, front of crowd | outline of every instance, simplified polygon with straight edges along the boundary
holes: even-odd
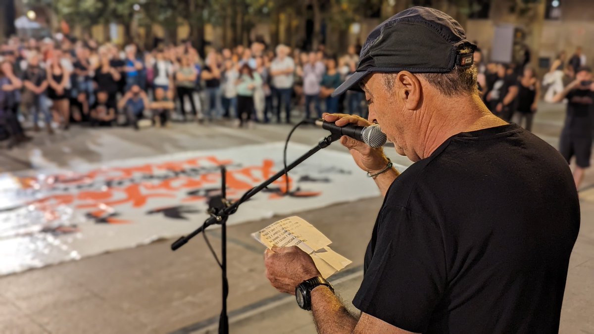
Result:
[[[314,103],[318,118],[322,116],[322,109],[320,108],[320,83],[325,72],[326,67],[324,67],[324,63],[317,60],[315,52],[309,52],[308,61],[303,66],[301,73],[303,77],[303,92],[305,94],[306,119],[311,117],[311,103]]]

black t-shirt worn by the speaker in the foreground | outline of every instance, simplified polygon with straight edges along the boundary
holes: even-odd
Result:
[[[580,209],[516,124],[457,134],[390,187],[353,304],[420,333],[557,333]]]

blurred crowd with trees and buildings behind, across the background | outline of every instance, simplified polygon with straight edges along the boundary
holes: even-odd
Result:
[[[365,117],[363,93],[330,94],[355,70],[368,31],[411,5],[444,10],[466,27],[479,46],[485,104],[530,130],[538,102],[553,102],[587,66],[592,46],[582,42],[594,29],[571,26],[589,11],[576,0],[173,2],[2,5],[4,146],[71,124],[251,127],[322,112]],[[563,38],[551,42],[552,34]]]

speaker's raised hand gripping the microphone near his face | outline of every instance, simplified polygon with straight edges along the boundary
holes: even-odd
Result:
[[[322,118],[326,122],[334,122],[339,127],[349,123],[361,125],[362,127],[368,127],[369,125],[372,125],[365,118],[355,115],[324,113]],[[386,165],[388,164],[388,159],[386,155],[384,155],[384,150],[381,147],[374,149],[362,141],[358,141],[347,136],[342,136],[342,138],[340,138],[340,143],[349,149],[350,155],[352,155],[353,159],[355,159],[357,166],[359,166],[359,168],[363,169],[365,172],[374,174],[386,168]]]

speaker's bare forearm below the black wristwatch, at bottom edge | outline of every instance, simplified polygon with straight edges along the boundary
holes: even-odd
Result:
[[[358,322],[327,286],[320,285],[311,291],[311,310],[320,334],[350,334]]]

